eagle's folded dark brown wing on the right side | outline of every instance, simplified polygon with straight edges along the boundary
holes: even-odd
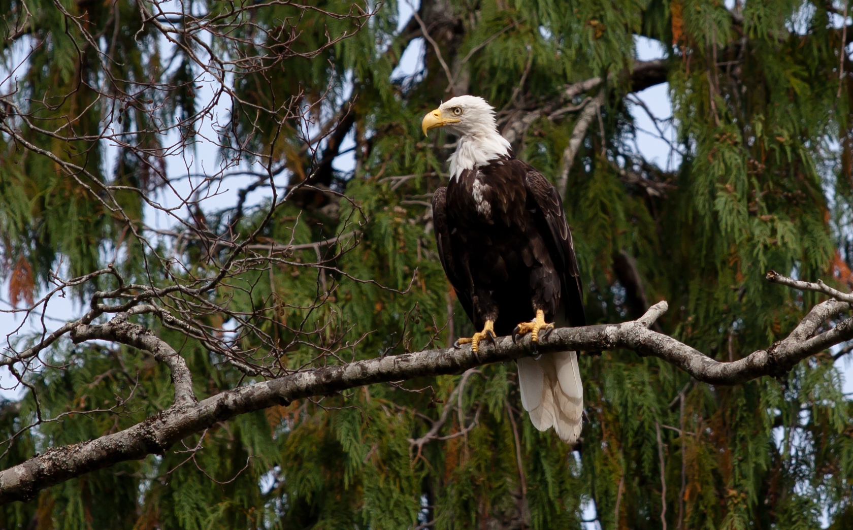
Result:
[[[527,209],[536,219],[539,233],[548,245],[548,253],[560,272],[562,306],[566,312],[567,323],[583,326],[586,324],[586,316],[583,313],[580,272],[577,269],[572,230],[569,230],[569,224],[566,223],[563,201],[557,189],[542,173],[532,166],[527,166],[526,169]]]

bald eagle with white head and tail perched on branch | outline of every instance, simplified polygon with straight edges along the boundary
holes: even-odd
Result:
[[[481,97],[458,96],[424,116],[424,134],[444,127],[459,140],[450,183],[432,195],[438,255],[477,329],[459,344],[496,335],[583,326],[583,300],[572,232],[560,194],[542,173],[515,158]],[[533,425],[574,443],[581,431],[583,386],[575,352],[518,360],[521,403]]]

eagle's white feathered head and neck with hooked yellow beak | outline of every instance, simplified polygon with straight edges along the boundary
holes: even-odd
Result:
[[[421,123],[424,134],[436,127],[444,127],[459,137],[456,152],[450,155],[450,178],[512,155],[509,142],[497,131],[495,109],[482,97],[456,96],[442,103]]]

